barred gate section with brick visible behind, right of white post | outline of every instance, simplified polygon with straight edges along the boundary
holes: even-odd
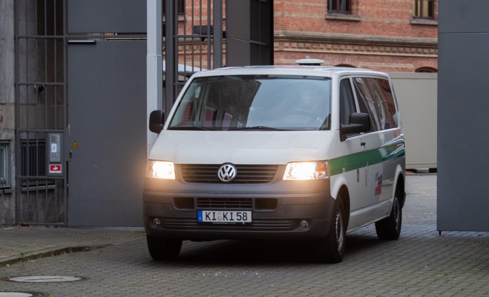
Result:
[[[163,106],[169,111],[192,74],[223,66],[223,0],[165,1],[162,8],[166,62]]]

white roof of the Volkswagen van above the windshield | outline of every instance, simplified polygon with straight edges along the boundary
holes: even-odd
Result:
[[[252,75],[252,74],[292,74],[292,75],[317,75],[331,77],[335,74],[366,74],[382,75],[386,73],[376,72],[368,69],[336,67],[336,66],[244,66],[224,67],[214,70],[201,71],[195,76],[221,76],[221,75]]]

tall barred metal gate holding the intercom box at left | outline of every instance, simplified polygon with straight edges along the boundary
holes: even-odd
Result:
[[[16,223],[66,225],[65,3],[14,3]]]

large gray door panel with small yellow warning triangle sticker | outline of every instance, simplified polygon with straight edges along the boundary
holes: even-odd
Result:
[[[70,44],[68,69],[68,224],[142,226],[146,41]]]

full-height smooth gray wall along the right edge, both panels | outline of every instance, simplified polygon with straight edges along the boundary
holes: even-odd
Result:
[[[438,230],[489,230],[489,1],[439,2]]]

